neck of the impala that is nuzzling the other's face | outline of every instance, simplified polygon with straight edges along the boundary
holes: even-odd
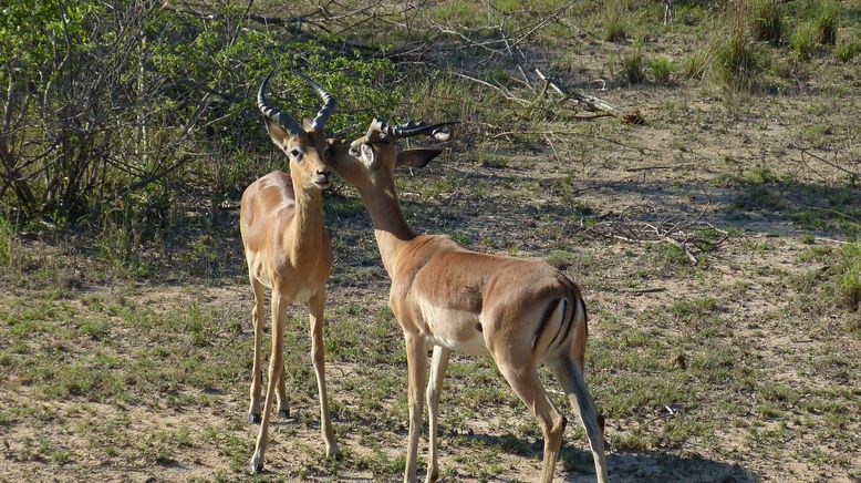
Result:
[[[371,215],[380,257],[391,278],[398,251],[415,238],[416,234],[404,219],[391,174],[378,173],[375,179],[360,189],[360,194]]]

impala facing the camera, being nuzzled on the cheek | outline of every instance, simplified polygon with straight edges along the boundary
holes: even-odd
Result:
[[[251,459],[251,471],[255,473],[263,469],[276,381],[278,412],[282,417],[290,415],[284,389],[283,339],[287,307],[292,301],[308,304],[311,314],[311,357],[320,393],[320,428],[326,455],[338,455],[325,392],[322,328],[325,279],[332,269],[333,256],[323,228],[321,202],[321,192],[332,184],[332,171],[325,162],[329,144],[323,135],[323,126],[335,110],[335,100],[323,88],[302,75],[323,100],[323,107],[313,121],[304,119],[300,127],[292,117],[267,102],[266,88],[271,76],[270,73],[260,84],[257,104],[263,113],[272,142],[287,154],[290,174],[274,171],[253,182],[242,193],[239,214],[248,277],[255,292],[255,308],[251,310],[255,362],[251,370],[251,405],[248,410],[249,420],[260,422],[257,448]],[[266,288],[272,292],[272,351],[261,421],[260,340]]]

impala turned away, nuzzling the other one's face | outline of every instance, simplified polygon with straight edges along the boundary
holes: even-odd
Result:
[[[598,480],[604,482],[603,419],[583,379],[587,312],[578,286],[542,261],[470,251],[444,235],[416,235],[404,219],[395,192],[395,168],[425,166],[442,150],[398,152],[392,143],[418,134],[446,141],[446,124],[388,126],[374,120],[364,136],[349,146],[338,144],[330,158],[335,172],[359,191],[371,215],[391,278],[388,304],[406,339],[409,436],[404,481],[416,477],[427,347],[433,346],[427,383],[427,481],[439,474],[437,409],[448,357],[457,350],[489,353],[538,419],[544,436],[542,482],[553,477],[566,428],[566,418],[538,378],[538,367],[547,363],[583,422]]]

